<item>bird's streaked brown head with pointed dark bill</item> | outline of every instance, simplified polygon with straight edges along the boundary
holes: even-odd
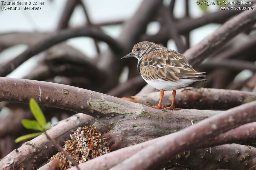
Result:
[[[155,44],[154,42],[149,42],[149,41],[139,42],[133,46],[131,53],[125,55],[121,59],[135,57],[139,60],[140,57],[146,54],[146,52],[150,51],[151,47],[154,45],[157,46],[157,44]]]

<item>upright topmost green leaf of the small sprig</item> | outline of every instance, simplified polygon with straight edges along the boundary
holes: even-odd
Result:
[[[37,122],[43,127],[46,124],[46,119],[36,100],[31,98],[29,101],[29,107]]]

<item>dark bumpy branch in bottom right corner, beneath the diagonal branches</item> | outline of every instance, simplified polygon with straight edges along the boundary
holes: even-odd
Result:
[[[181,152],[170,159],[170,164],[178,167],[185,166],[189,170],[252,170],[255,168],[255,161],[256,148],[239,144],[225,144]]]

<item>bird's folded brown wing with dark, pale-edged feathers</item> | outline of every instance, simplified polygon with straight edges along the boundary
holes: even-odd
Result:
[[[148,54],[139,60],[140,74],[147,80],[162,79],[166,81],[179,81],[180,78],[204,77],[204,72],[197,72],[188,63],[184,55],[164,50]]]

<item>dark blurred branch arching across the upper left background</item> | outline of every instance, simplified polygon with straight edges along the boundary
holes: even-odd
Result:
[[[98,39],[100,41],[106,42],[109,47],[115,53],[120,53],[122,47],[117,43],[113,38],[102,33],[98,30],[93,30],[90,28],[82,28],[82,29],[73,29],[73,30],[63,30],[60,32],[56,32],[53,35],[43,39],[42,41],[37,42],[35,45],[30,46],[26,51],[10,60],[8,63],[5,63],[0,67],[0,76],[4,77],[7,74],[11,73],[12,70],[17,68],[21,63],[28,60],[30,57],[38,54],[39,52],[58,44],[62,41],[68,40],[69,38],[81,37],[81,36],[89,36],[94,39]]]

